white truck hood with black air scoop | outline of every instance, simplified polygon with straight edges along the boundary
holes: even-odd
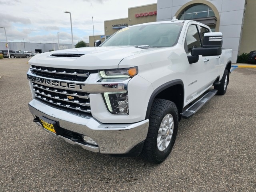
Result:
[[[37,54],[28,63],[56,68],[110,69],[118,68],[126,57],[156,49],[134,46],[84,47]]]

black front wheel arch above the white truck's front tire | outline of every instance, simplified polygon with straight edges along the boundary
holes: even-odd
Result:
[[[181,119],[181,113],[184,106],[184,84],[182,80],[178,79],[166,82],[154,90],[148,102],[145,119],[149,118],[150,109],[155,98],[166,99],[174,102],[178,109],[179,120]]]

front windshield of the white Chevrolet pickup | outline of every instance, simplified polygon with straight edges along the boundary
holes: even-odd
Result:
[[[100,46],[148,45],[171,47],[178,42],[183,23],[161,23],[126,27]]]

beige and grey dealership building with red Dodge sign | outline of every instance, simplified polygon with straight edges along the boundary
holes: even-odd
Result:
[[[256,0],[158,0],[156,4],[128,8],[128,18],[104,21],[100,36],[89,36],[89,45],[102,42],[126,26],[154,21],[195,20],[223,33],[223,48],[233,49],[232,62],[243,52],[256,50]]]

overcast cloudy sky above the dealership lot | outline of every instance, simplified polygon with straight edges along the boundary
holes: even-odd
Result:
[[[6,28],[8,42],[59,42],[74,45],[104,34],[104,20],[128,17],[128,8],[157,3],[157,0],[0,0],[0,27]],[[54,40],[53,40],[54,39]],[[0,42],[6,42],[0,28]]]

